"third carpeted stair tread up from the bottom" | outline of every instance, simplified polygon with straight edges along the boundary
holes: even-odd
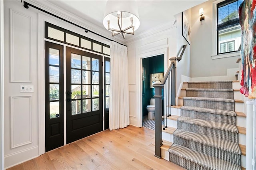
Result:
[[[236,128],[236,126],[226,124],[226,123],[219,123],[214,121],[207,121],[207,120],[195,119],[195,118],[183,117],[183,116],[179,117],[177,121],[189,123],[192,125],[198,125],[202,127],[210,127],[210,128],[228,131],[228,132],[238,133],[238,129]]]

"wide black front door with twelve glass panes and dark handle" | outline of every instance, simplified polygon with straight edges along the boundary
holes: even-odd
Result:
[[[66,47],[67,143],[103,130],[102,56]]]

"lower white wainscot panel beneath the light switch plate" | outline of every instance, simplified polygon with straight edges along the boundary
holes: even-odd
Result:
[[[11,96],[11,148],[32,143],[32,96]]]

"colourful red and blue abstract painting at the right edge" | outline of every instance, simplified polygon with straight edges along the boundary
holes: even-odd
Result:
[[[239,7],[241,25],[242,77],[240,92],[256,98],[256,1],[245,0]]]

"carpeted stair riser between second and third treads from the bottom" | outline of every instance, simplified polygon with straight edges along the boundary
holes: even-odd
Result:
[[[178,128],[238,143],[238,134],[234,132],[228,132],[209,127],[201,127],[198,125],[183,122],[178,122]]]

